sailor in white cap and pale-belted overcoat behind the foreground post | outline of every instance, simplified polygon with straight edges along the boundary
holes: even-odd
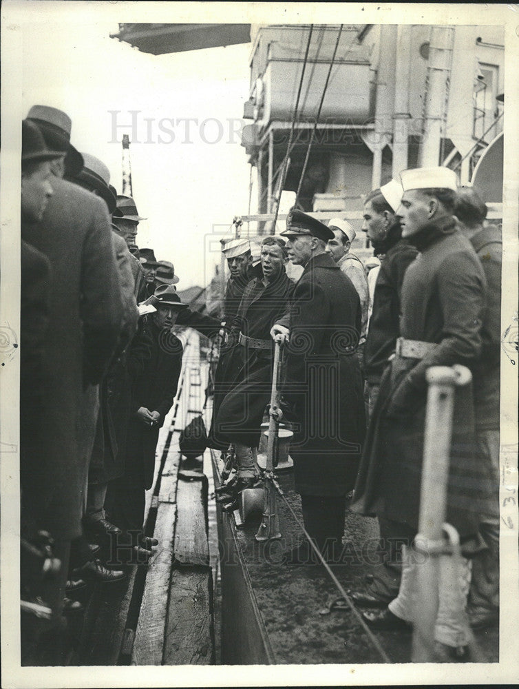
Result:
[[[432,366],[473,367],[481,351],[485,275],[474,248],[453,218],[456,174],[445,167],[406,170],[397,209],[402,235],[421,251],[405,271],[401,336],[381,380],[352,509],[401,524],[412,542],[419,522],[427,382]],[[480,510],[487,497],[487,466],[477,450],[470,386],[456,391],[447,477],[446,519],[460,535],[463,555],[474,552]],[[471,552],[472,551],[472,552]],[[460,558],[459,580],[468,581]],[[363,613],[374,628],[403,628],[412,619],[410,572],[403,558],[399,595],[377,612]],[[411,577],[412,580],[412,577]],[[467,622],[453,592],[440,581],[434,632],[439,657],[468,657]],[[456,597],[467,595],[468,586]],[[459,614],[458,614],[459,612]]]

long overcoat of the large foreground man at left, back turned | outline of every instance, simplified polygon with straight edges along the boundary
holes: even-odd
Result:
[[[45,528],[66,540],[81,534],[97,386],[118,342],[122,299],[105,202],[58,178],[52,187],[43,220],[22,232],[53,273],[40,453],[45,480],[34,487],[45,504]]]

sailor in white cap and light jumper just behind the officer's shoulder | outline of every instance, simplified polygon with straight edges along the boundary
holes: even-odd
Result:
[[[347,278],[353,282],[353,287],[357,290],[361,300],[361,339],[357,349],[357,356],[363,371],[364,361],[364,342],[366,342],[366,332],[368,330],[368,311],[370,308],[370,290],[366,270],[359,256],[350,251],[350,247],[357,233],[348,223],[348,220],[332,218],[328,223],[328,228],[333,232],[333,238],[328,240],[326,251],[331,254],[335,263]]]

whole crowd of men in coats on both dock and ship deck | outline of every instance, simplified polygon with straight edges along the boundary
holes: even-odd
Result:
[[[352,510],[379,522],[383,563],[366,590],[350,591],[374,628],[412,623],[425,373],[469,367],[473,384],[456,391],[446,518],[460,535],[471,624],[495,624],[501,238],[476,191],[445,167],[367,189],[371,271],[350,249],[350,223],[293,209],[280,236],[224,243],[230,277],[213,318],[182,304],[173,263],[137,247],[144,218],[102,161],[72,147],[71,124],[39,105],[23,121],[22,558],[51,548],[61,563],[39,603],[59,619],[78,608],[85,579],[122,581],[125,565],[157,546],[142,522],[180,375],[178,324],[221,342],[208,442],[232,448],[235,471],[217,491],[226,510],[260,485],[274,341],[284,345],[283,421],[313,546],[342,562],[352,491]],[[307,541],[284,555],[286,566],[311,562]],[[435,638],[458,658],[467,629],[449,595],[441,583]]]

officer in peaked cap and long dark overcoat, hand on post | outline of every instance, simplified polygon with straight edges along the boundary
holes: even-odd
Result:
[[[366,429],[363,384],[355,350],[361,329],[359,295],[326,253],[333,233],[298,210],[287,218],[288,257],[304,267],[290,311],[273,327],[288,335],[282,387],[295,431],[290,456],[306,531],[321,552],[339,556],[346,494],[354,486]],[[304,542],[286,556],[312,561]]]

